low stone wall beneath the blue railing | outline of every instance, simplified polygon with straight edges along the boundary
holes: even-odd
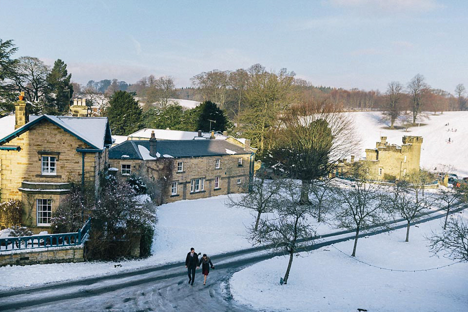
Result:
[[[23,250],[11,254],[0,253],[0,266],[83,261],[83,246],[67,249],[46,249],[40,251],[32,249],[31,251],[27,252]]]

